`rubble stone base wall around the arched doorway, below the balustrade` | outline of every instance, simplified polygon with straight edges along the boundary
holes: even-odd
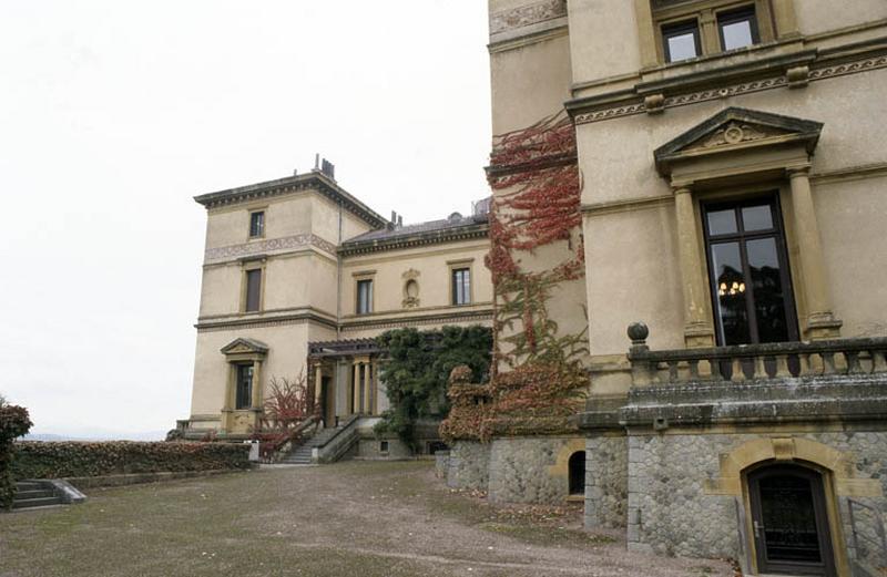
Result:
[[[720,455],[748,441],[769,436],[774,435],[629,436],[629,548],[664,555],[742,558],[740,519],[744,513],[740,509],[743,502],[732,495],[711,494],[706,492],[706,484],[720,475]],[[855,477],[878,480],[881,490],[887,491],[887,433],[782,433],[779,436],[808,439],[849,455],[856,468]],[[608,498],[613,497],[605,496],[604,501]],[[877,507],[881,516],[887,515],[884,496],[850,498]],[[848,556],[854,558],[848,497],[839,494],[837,501]],[[857,530],[875,533],[874,517],[857,516]],[[873,552],[859,553],[860,557],[873,555]]]

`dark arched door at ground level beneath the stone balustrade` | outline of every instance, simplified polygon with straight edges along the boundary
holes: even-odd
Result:
[[[776,464],[747,481],[758,573],[835,576],[822,473]]]

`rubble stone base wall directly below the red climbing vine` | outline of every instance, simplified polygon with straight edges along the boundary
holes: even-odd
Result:
[[[488,492],[498,503],[563,503],[570,455],[578,437],[508,437],[489,444],[459,442],[450,451],[447,484]]]

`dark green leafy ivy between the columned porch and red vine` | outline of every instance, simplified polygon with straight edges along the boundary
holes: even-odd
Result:
[[[397,434],[414,450],[417,422],[442,419],[449,412],[447,382],[452,369],[459,364],[469,367],[477,382],[487,380],[490,371],[492,333],[487,327],[395,329],[377,341],[388,351],[380,380],[391,408],[383,413],[375,430]]]

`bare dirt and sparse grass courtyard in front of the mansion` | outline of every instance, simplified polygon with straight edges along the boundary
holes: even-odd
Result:
[[[346,462],[93,490],[0,514],[0,576],[728,577],[716,560],[628,553],[581,504],[492,506],[428,462]]]

